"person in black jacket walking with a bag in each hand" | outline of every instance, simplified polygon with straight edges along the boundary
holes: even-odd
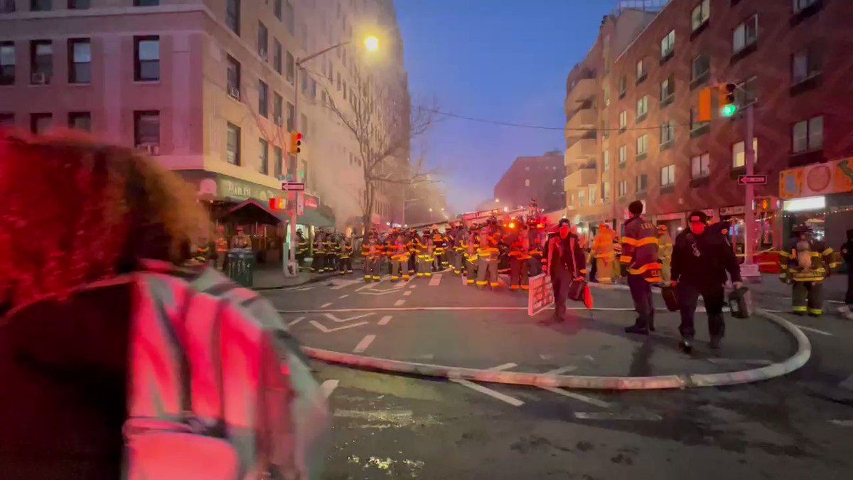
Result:
[[[693,313],[699,295],[705,301],[708,313],[708,331],[711,348],[720,348],[725,333],[722,305],[725,303],[726,272],[735,288],[741,284],[740,266],[734,250],[722,231],[708,228],[708,217],[703,212],[693,212],[689,217],[690,228],[676,237],[672,253],[672,284],[677,285],[678,303],[681,307],[682,334],[680,347],[686,353],[693,349]]]

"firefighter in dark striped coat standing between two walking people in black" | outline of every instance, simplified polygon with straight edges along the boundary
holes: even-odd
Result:
[[[648,335],[654,330],[652,284],[660,282],[658,237],[654,225],[642,216],[643,204],[630,202],[622,236],[622,256],[619,261],[628,275],[628,287],[637,312],[634,325],[625,327],[628,333]]]

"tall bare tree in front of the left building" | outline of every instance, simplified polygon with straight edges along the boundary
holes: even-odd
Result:
[[[380,185],[405,185],[435,181],[438,170],[427,168],[421,155],[409,159],[412,140],[430,130],[435,123],[434,106],[410,106],[382,102],[372,91],[371,81],[357,76],[357,89],[351,89],[349,104],[339,105],[326,91],[325,107],[350,132],[358,144],[358,156],[364,177],[364,190],[358,199],[366,233],[374,212]],[[403,208],[405,206],[403,205]]]

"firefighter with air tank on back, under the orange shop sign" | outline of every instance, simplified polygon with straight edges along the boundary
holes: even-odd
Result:
[[[808,226],[798,225],[779,258],[780,278],[792,284],[794,313],[820,317],[823,314],[823,281],[836,266],[833,249],[813,239]]]

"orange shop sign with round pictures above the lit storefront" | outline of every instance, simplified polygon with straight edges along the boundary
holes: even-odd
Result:
[[[789,168],[779,173],[779,196],[783,199],[849,191],[853,191],[851,158]]]

